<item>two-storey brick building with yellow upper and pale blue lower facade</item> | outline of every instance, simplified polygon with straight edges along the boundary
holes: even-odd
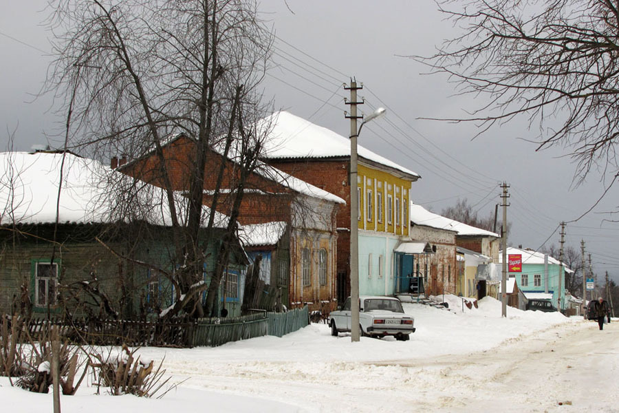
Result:
[[[338,212],[338,298],[349,295],[350,141],[288,112],[266,121],[272,125],[263,160],[346,201]],[[358,147],[360,294],[395,293],[394,248],[409,239],[407,207],[417,173]]]

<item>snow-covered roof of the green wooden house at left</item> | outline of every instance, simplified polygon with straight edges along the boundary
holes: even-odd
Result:
[[[169,205],[160,188],[135,185],[133,178],[92,159],[65,154],[58,222],[76,224],[143,220],[171,225]],[[0,153],[0,224],[45,224],[56,221],[63,153]],[[135,192],[135,188],[140,191]],[[186,197],[175,193],[177,211],[186,211]],[[131,204],[131,208],[118,208]],[[205,213],[210,210],[204,207]],[[184,220],[183,216],[179,217]],[[228,217],[215,213],[215,226]]]

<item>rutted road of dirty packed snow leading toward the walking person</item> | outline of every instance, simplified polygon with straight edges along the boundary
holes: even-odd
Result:
[[[618,324],[602,332],[594,323],[561,324],[483,352],[428,359],[182,364],[169,372],[188,377],[184,385],[303,412],[619,412]]]

